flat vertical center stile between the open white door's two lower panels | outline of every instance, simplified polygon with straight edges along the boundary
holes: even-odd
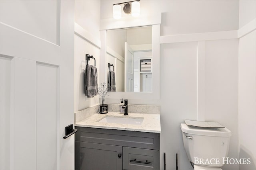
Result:
[[[36,169],[36,62],[11,60],[10,169]]]

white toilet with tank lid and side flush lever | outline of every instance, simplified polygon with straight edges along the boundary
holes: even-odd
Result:
[[[224,128],[190,127],[181,123],[182,139],[194,170],[222,170],[228,156],[231,131]]]

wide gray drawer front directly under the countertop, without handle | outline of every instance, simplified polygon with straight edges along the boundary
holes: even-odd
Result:
[[[160,150],[160,134],[76,127],[76,141]]]

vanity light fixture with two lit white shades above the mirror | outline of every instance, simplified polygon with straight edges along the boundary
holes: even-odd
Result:
[[[125,14],[131,14],[134,17],[140,16],[140,0],[134,0],[129,2],[123,2],[113,5],[113,18],[120,19],[122,17],[122,7],[121,4],[124,4],[123,11]]]

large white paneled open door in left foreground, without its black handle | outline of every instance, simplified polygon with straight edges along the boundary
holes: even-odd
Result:
[[[74,1],[0,1],[0,170],[74,170]]]

